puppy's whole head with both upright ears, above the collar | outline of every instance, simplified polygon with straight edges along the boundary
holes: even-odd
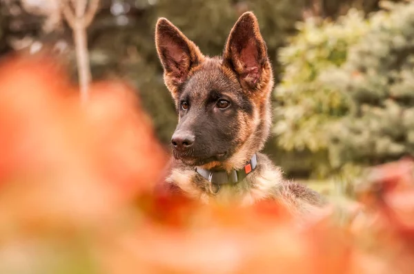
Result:
[[[243,167],[263,148],[271,120],[273,73],[255,15],[238,19],[221,57],[201,54],[164,18],[155,42],[179,115],[171,140],[175,158],[208,169]]]

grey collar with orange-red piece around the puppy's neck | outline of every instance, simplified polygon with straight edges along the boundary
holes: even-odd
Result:
[[[236,184],[237,182],[242,181],[246,178],[247,174],[255,170],[257,166],[257,156],[256,154],[246,163],[243,169],[235,170],[233,169],[230,173],[226,171],[210,171],[207,169],[201,169],[201,167],[196,167],[195,171],[201,176],[206,178],[208,182],[211,182],[215,185],[224,185],[224,184]]]

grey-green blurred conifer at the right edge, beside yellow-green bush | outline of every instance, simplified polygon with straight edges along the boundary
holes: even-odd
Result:
[[[384,2],[370,30],[324,81],[351,112],[331,128],[331,165],[377,165],[414,154],[414,3]]]

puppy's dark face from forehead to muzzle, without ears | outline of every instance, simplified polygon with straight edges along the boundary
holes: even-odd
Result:
[[[253,105],[218,61],[206,61],[181,87],[173,153],[188,165],[223,161],[240,145]],[[187,143],[186,143],[187,142]]]

